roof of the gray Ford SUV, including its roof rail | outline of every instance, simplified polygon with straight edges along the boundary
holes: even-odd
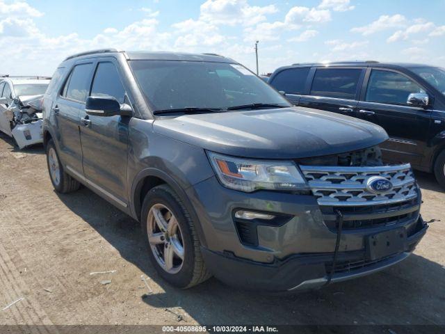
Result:
[[[83,56],[104,56],[108,54],[124,54],[128,60],[161,60],[161,61],[213,61],[218,63],[236,63],[236,61],[220,56],[219,54],[192,54],[186,52],[173,51],[120,51],[118,49],[99,49],[74,54],[65,59],[79,58]]]

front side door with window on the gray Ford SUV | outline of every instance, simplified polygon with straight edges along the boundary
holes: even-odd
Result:
[[[126,101],[118,64],[97,63],[91,96],[114,97]],[[81,111],[83,173],[88,182],[106,197],[127,207],[127,141],[129,117],[91,116]]]

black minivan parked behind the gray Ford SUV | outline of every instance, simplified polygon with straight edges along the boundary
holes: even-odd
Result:
[[[384,161],[435,173],[445,187],[445,70],[372,62],[295,64],[269,84],[298,106],[333,111],[383,127]]]

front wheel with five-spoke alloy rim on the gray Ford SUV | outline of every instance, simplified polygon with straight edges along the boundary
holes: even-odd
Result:
[[[162,184],[147,193],[141,223],[149,258],[164,280],[186,289],[211,277],[191,216],[170,186]]]

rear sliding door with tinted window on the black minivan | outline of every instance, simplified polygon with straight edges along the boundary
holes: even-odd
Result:
[[[317,67],[309,95],[299,105],[355,117],[365,72],[363,67]]]

